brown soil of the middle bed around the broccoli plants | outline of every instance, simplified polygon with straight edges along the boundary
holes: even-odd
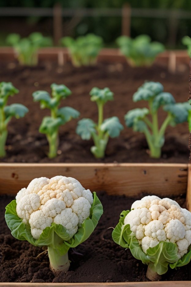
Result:
[[[62,102],[62,106],[71,106],[80,111],[81,118],[92,118],[97,121],[97,106],[90,101],[89,92],[94,87],[109,87],[114,92],[114,101],[104,107],[104,117],[119,117],[124,125],[124,115],[130,109],[144,107],[147,102],[133,103],[133,93],[145,80],[159,81],[164,91],[173,94],[177,102],[187,101],[189,96],[189,63],[179,66],[176,74],[170,74],[167,67],[154,65],[151,68],[131,68],[127,64],[99,63],[95,67],[74,68],[70,63],[58,67],[54,62],[42,62],[38,67],[21,67],[16,62],[0,63],[1,81],[12,82],[20,92],[9,99],[11,103],[22,103],[29,109],[23,119],[12,119],[9,124],[7,139],[7,156],[2,162],[22,163],[82,163],[82,162],[164,162],[187,163],[188,124],[168,127],[161,159],[151,159],[144,135],[124,127],[118,138],[110,139],[104,159],[95,159],[90,152],[92,140],[82,140],[75,133],[78,120],[72,120],[60,128],[58,156],[48,159],[46,136],[38,129],[43,116],[50,111],[40,110],[39,103],[34,103],[32,93],[36,90],[50,92],[51,83],[65,84],[72,90],[72,95]],[[165,113],[159,112],[159,124]],[[125,125],[124,125],[125,126]]]

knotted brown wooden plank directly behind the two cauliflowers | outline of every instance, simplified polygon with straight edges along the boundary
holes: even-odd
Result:
[[[0,193],[16,194],[36,177],[74,177],[84,188],[127,196],[186,193],[187,164],[142,163],[1,163]]]

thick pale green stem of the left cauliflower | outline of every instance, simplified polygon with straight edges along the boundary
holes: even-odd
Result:
[[[60,271],[68,271],[70,266],[68,252],[61,255],[58,249],[48,246],[48,257],[50,260],[50,268],[54,274]]]

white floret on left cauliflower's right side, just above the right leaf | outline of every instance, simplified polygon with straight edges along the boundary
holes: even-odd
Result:
[[[89,201],[84,197],[75,199],[71,208],[73,212],[77,214],[80,224],[82,224],[82,222],[90,215],[91,205]]]

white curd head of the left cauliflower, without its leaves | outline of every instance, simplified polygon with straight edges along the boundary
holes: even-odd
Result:
[[[17,215],[30,224],[35,239],[53,222],[63,225],[71,238],[90,215],[93,195],[75,178],[41,177],[17,193],[16,203]]]

